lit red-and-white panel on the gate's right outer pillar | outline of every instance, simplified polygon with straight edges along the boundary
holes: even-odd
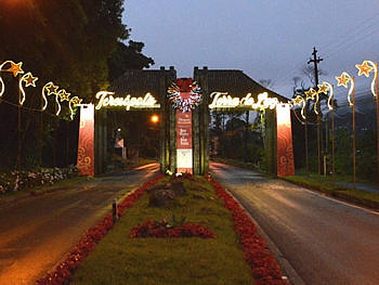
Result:
[[[276,105],[277,176],[295,176],[291,116],[288,104]]]

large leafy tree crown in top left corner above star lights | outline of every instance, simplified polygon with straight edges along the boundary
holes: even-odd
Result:
[[[91,99],[107,85],[107,60],[119,39],[123,0],[0,2],[1,60],[23,61],[40,82]],[[69,16],[67,16],[69,15]]]

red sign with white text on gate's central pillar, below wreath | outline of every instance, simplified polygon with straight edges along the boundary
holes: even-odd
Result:
[[[181,95],[190,96],[190,93]],[[193,173],[192,112],[177,111],[177,172]]]

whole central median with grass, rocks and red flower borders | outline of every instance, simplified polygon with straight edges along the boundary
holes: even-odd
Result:
[[[119,212],[39,284],[287,284],[256,225],[210,177],[156,178]]]

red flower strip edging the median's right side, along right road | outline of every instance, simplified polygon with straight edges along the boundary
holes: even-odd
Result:
[[[213,184],[225,207],[232,212],[234,230],[239,236],[245,259],[250,264],[257,285],[287,285],[282,280],[280,268],[270,252],[265,242],[258,235],[257,226],[239,204],[209,174],[207,179]]]

